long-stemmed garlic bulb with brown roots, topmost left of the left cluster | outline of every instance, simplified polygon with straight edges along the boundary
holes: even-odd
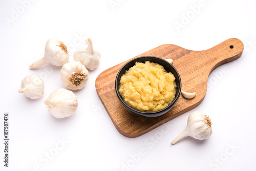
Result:
[[[46,42],[45,56],[29,66],[31,70],[51,63],[54,66],[62,66],[69,60],[69,52],[65,44],[57,38],[51,38]]]

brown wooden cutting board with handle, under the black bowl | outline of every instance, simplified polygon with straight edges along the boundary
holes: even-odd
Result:
[[[145,118],[133,115],[126,111],[117,98],[115,92],[116,75],[121,67],[133,58],[99,74],[95,81],[95,87],[116,129],[126,137],[138,137],[198,106],[206,94],[209,74],[224,63],[238,59],[242,55],[243,49],[244,45],[241,40],[230,38],[203,51],[191,51],[176,45],[166,44],[135,56],[172,58],[174,60],[173,66],[181,77],[182,90],[196,92],[196,97],[193,99],[185,99],[181,95],[175,106],[159,117]]]

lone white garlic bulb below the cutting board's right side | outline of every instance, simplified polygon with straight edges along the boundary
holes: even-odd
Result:
[[[187,119],[187,127],[183,133],[176,137],[172,144],[177,143],[181,139],[190,136],[195,139],[208,139],[212,133],[210,118],[202,112],[196,111],[191,113]]]

